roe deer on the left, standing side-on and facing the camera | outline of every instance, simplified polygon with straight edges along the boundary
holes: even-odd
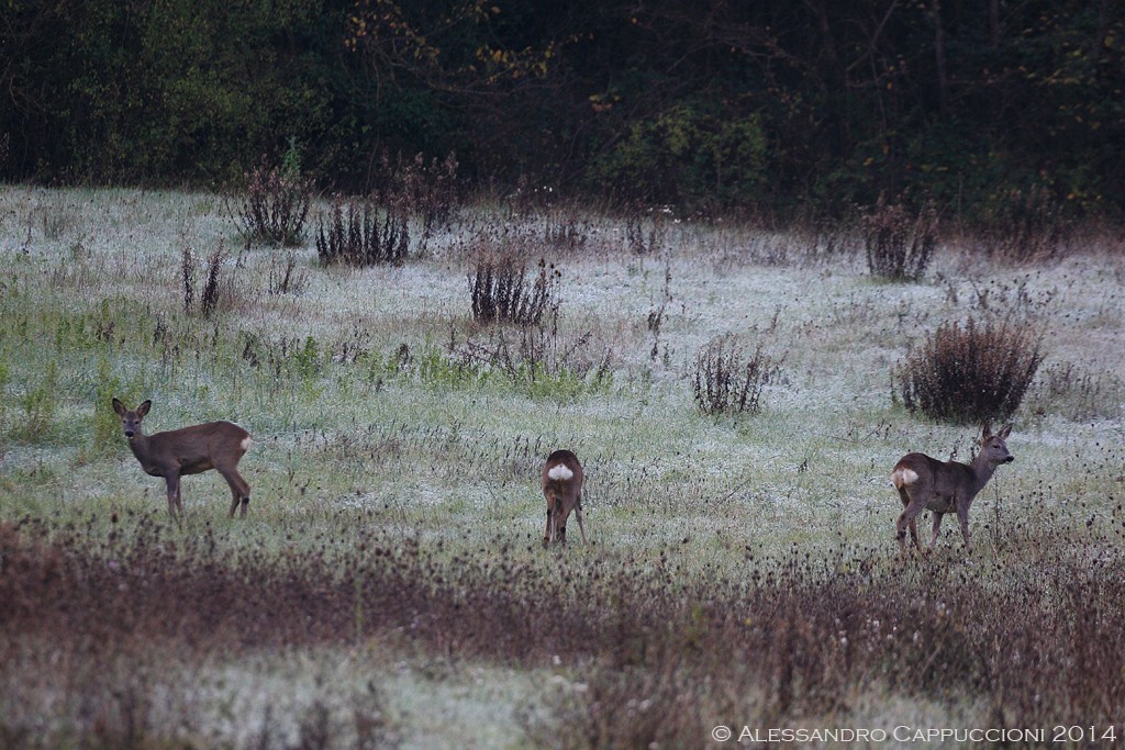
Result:
[[[246,517],[250,505],[250,482],[237,471],[238,460],[250,448],[250,433],[230,422],[208,422],[181,430],[145,435],[141,432],[141,421],[148,414],[152,401],[145,401],[136,410],[127,408],[116,398],[114,410],[122,417],[125,436],[129,441],[133,455],[141,462],[145,473],[163,477],[168,484],[168,512],[173,518],[183,513],[180,499],[180,477],[197,475],[215,469],[231,486],[230,516],[242,504],[241,517]]]

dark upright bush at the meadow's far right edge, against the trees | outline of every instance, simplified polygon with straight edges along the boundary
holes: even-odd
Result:
[[[937,244],[937,211],[926,206],[915,215],[901,204],[879,197],[863,217],[863,241],[872,275],[893,281],[916,281],[929,265]]]

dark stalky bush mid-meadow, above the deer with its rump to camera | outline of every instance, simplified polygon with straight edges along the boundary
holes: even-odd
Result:
[[[472,319],[477,323],[506,322],[536,325],[543,313],[558,308],[557,286],[561,273],[540,259],[539,275],[531,288],[528,264],[510,253],[485,253],[469,274]]]

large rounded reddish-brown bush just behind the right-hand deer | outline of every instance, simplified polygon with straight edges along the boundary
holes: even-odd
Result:
[[[911,413],[965,424],[1000,422],[1019,408],[1043,362],[1040,337],[1012,318],[972,316],[934,335],[896,368]]]

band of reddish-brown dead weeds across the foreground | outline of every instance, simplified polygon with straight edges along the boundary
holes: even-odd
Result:
[[[1034,569],[1007,570],[1009,585],[997,587],[971,561],[935,555],[902,569],[873,551],[747,554],[745,575],[691,580],[672,575],[674,554],[620,551],[559,577],[510,548],[448,558],[338,521],[363,554],[251,548],[234,561],[214,555],[222,540],[209,527],[173,542],[132,514],[108,535],[92,519],[69,534],[30,521],[0,527],[4,746],[200,747],[198,725],[189,735],[160,721],[154,697],[169,688],[145,654],[190,672],[380,633],[457,661],[575,665],[522,712],[529,739],[557,747],[691,746],[720,721],[847,715],[854,687],[873,681],[907,697],[964,696],[1017,726],[1048,708],[1052,723],[1107,726],[1125,702],[1123,561],[1073,554],[1065,530],[1037,539]],[[1119,545],[1123,524],[1118,507],[1087,528],[1087,544]],[[1018,550],[1028,533],[998,540]],[[73,668],[63,679],[42,671],[47,662]],[[52,689],[61,699],[45,725],[30,712]],[[342,723],[313,706],[299,726],[307,747],[396,735],[377,697]],[[286,746],[262,737],[260,747]]]

